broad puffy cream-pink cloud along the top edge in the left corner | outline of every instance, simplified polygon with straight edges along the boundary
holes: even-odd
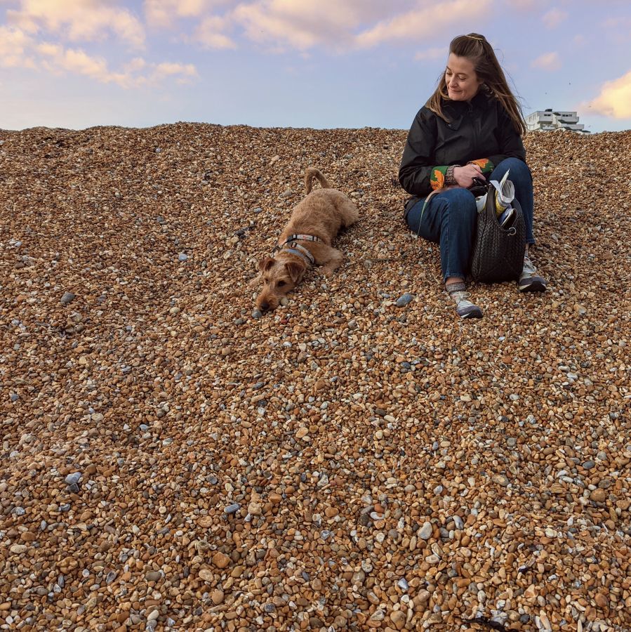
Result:
[[[93,41],[109,34],[133,48],[145,44],[145,29],[126,8],[105,0],[20,0],[6,12],[9,23],[25,32],[46,31],[70,41]]]

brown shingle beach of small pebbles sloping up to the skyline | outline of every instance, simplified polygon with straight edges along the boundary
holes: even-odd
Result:
[[[549,291],[479,322],[405,139],[0,131],[1,630],[631,630],[631,131],[526,136]],[[260,317],[307,166],[360,219]]]

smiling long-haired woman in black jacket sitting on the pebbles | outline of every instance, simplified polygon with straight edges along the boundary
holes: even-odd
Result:
[[[526,123],[498,59],[484,36],[460,35],[451,41],[449,59],[434,94],[411,126],[401,159],[399,182],[413,197],[406,221],[414,232],[440,244],[445,289],[462,318],[481,318],[467,301],[477,210],[468,190],[473,178],[509,178],[526,223],[526,255],[520,291],[545,291],[528,254],[533,238],[533,184],[522,135]],[[444,190],[447,189],[447,190]],[[425,198],[432,195],[425,210]]]

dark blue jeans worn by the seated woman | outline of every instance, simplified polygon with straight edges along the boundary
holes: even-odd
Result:
[[[528,165],[519,158],[507,158],[500,162],[487,180],[501,180],[510,169],[508,178],[515,187],[515,198],[522,206],[526,224],[526,243],[534,244],[533,237],[533,179]],[[421,211],[425,198],[410,209],[406,218],[413,232],[430,242],[440,244],[440,263],[443,279],[467,275],[471,266],[473,239],[477,209],[475,198],[468,189],[449,189],[434,195]]]

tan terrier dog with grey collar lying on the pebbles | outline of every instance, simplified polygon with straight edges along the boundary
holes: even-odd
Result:
[[[313,178],[317,178],[321,189],[311,190]],[[275,310],[281,298],[300,283],[310,265],[323,266],[325,275],[336,270],[343,254],[331,242],[340,228],[350,226],[359,217],[357,206],[343,192],[332,189],[318,169],[305,169],[305,187],[307,197],[293,209],[272,257],[258,263],[263,290],[256,306],[262,311]]]

